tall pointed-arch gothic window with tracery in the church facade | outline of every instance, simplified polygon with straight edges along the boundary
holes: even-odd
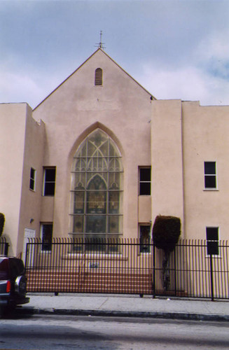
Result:
[[[78,147],[71,169],[71,233],[116,238],[122,224],[123,165],[113,140],[92,132]]]

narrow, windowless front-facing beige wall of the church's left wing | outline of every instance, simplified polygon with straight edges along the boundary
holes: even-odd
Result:
[[[0,104],[0,211],[10,253],[18,241],[26,115],[27,104]]]

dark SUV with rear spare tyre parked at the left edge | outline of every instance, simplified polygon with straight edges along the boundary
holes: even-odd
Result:
[[[13,256],[0,255],[0,307],[15,307],[27,302],[24,262]]]

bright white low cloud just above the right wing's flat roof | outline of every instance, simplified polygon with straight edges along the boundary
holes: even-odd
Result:
[[[197,66],[171,70],[145,64],[143,74],[137,80],[157,99],[200,101],[202,106],[229,104],[228,81]]]

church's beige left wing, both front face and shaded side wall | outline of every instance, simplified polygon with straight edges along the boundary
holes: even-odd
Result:
[[[6,222],[4,236],[10,254],[22,253],[25,228],[39,230],[42,174],[36,191],[29,190],[30,168],[40,170],[43,158],[43,123],[32,119],[27,104],[0,104],[0,210]],[[30,224],[30,218],[34,223]]]

